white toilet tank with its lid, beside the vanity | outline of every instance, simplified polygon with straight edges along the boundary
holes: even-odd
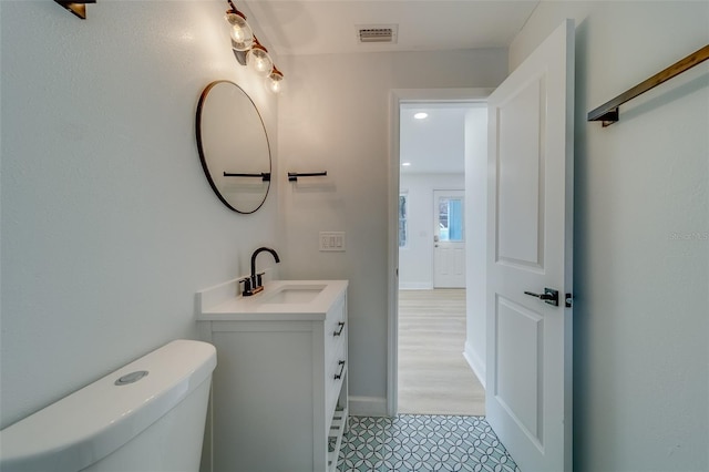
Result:
[[[0,471],[196,472],[215,367],[172,341],[0,431]]]

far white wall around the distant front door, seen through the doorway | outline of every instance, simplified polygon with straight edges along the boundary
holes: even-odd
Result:
[[[431,289],[435,217],[433,191],[465,189],[465,175],[401,174],[399,187],[409,195],[409,240],[407,247],[399,249],[399,288]]]

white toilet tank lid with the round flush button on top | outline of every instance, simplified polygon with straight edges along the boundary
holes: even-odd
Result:
[[[84,469],[172,410],[215,367],[214,346],[172,341],[0,431],[0,470]],[[121,378],[129,383],[116,384]]]

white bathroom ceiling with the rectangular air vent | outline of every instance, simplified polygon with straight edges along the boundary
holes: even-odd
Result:
[[[507,48],[538,0],[246,0],[277,55]],[[238,7],[238,1],[236,6]],[[360,43],[397,25],[395,43]]]

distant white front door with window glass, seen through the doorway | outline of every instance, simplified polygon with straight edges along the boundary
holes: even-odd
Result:
[[[465,287],[463,191],[433,191],[433,287]]]

